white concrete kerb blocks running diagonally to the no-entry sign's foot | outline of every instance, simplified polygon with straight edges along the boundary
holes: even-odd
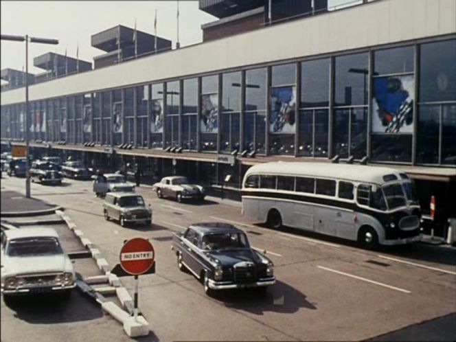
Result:
[[[98,265],[98,268],[104,273],[104,275],[108,276],[109,284],[115,288],[115,293],[117,298],[122,303],[122,306],[126,308],[128,311],[131,311],[130,308],[133,308],[133,299],[126,290],[122,283],[119,280],[117,275],[111,273],[111,268],[109,267],[108,262],[104,259],[98,249],[93,248],[93,243],[84,238],[84,233],[76,229],[76,225],[71,221],[69,216],[64,214],[61,210],[56,210],[56,214],[62,218],[62,220],[67,223],[67,226],[71,231],[75,233],[78,238],[80,238],[81,243],[89,249],[92,258]],[[124,331],[128,335],[128,337],[140,337],[146,336],[149,334],[149,323],[146,319],[139,315],[137,321],[135,321],[134,317],[131,317],[130,313],[122,310],[119,306],[115,305],[112,301],[106,301],[101,304],[102,309],[109,313],[112,317],[117,319],[117,321],[121,322],[124,326]]]

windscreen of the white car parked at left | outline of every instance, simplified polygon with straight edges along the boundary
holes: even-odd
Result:
[[[53,255],[63,253],[56,238],[19,238],[11,240],[6,254],[9,256]]]

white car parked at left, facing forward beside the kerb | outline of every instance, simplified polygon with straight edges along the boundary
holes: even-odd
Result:
[[[73,264],[52,228],[20,228],[1,235],[3,298],[33,293],[69,293],[76,286]]]

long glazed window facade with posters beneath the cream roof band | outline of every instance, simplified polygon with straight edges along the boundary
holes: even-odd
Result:
[[[67,144],[454,166],[455,60],[451,38],[100,89],[31,101],[28,129]],[[24,107],[1,106],[2,137],[24,139]]]

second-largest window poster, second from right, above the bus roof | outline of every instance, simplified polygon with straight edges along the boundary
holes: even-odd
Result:
[[[275,134],[295,133],[296,87],[271,88],[269,131]]]

